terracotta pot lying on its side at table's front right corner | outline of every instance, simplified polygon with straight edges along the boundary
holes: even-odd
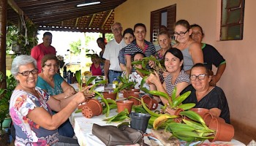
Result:
[[[223,123],[219,118],[213,118],[209,124],[209,128],[216,131],[214,139],[209,139],[210,142],[230,142],[235,134],[234,127],[228,123]]]

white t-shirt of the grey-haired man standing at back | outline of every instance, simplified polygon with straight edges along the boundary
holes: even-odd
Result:
[[[127,45],[124,42],[124,38],[121,40],[119,44],[116,42],[116,39],[112,39],[110,42],[108,42],[108,44],[105,47],[103,58],[110,61],[110,70],[121,72],[121,68],[119,66],[118,61],[118,54],[119,51],[126,46]]]

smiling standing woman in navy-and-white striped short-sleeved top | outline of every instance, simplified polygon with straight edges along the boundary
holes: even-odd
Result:
[[[132,69],[132,56],[134,56],[135,53],[144,53],[146,57],[156,54],[154,45],[151,42],[145,40],[146,26],[143,23],[135,24],[134,34],[135,40],[130,45],[127,45],[124,53],[127,61],[127,74],[135,72],[135,69]],[[148,65],[149,66],[146,66],[146,68],[150,69],[150,66],[154,66],[154,61],[149,61]]]

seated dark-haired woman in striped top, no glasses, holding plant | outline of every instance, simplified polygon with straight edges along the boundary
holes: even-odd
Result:
[[[146,82],[148,82],[151,91],[157,90],[164,93],[168,93],[169,96],[172,95],[173,89],[176,87],[176,96],[181,93],[189,84],[189,74],[184,72],[183,66],[183,55],[181,50],[173,47],[166,51],[165,53],[165,68],[168,72],[165,82],[161,83],[159,79],[159,74],[150,74]],[[163,104],[167,104],[167,100],[160,97]]]

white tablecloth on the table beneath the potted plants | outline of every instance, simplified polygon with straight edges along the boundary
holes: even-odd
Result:
[[[117,112],[116,110],[111,110],[110,111],[110,116],[112,117],[113,115],[116,115]],[[119,123],[106,123],[104,120],[106,117],[105,115],[99,115],[99,116],[95,116],[93,118],[85,118],[83,117],[82,113],[75,113],[73,112],[72,115],[70,116],[70,121],[72,123],[72,126],[74,126],[74,131],[75,131],[75,136],[78,138],[78,142],[80,146],[104,146],[104,143],[99,140],[96,136],[94,136],[94,134],[91,134],[91,129],[93,126],[93,123],[97,123],[100,126],[106,126],[106,125],[113,125],[113,126],[117,126]],[[146,131],[147,133],[151,133],[150,129],[147,129]],[[149,139],[147,137],[145,137],[145,142],[147,144],[151,144],[151,142],[149,141]],[[158,141],[159,142],[159,141]],[[195,145],[199,142],[195,142],[191,145]],[[205,142],[203,142],[204,144],[213,144],[214,145],[236,145],[236,146],[245,146],[243,143],[238,142],[235,139],[232,139],[231,142],[208,142],[208,140],[206,140]],[[181,143],[182,144],[182,143]],[[162,145],[161,143],[159,143],[159,145]],[[185,144],[184,144],[185,145]]]

